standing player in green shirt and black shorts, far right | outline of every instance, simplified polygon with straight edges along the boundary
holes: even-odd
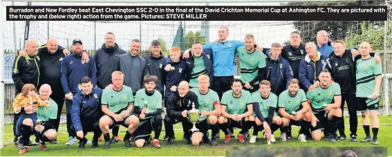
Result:
[[[369,55],[371,45],[364,41],[360,44],[361,59],[357,60],[357,111],[362,112],[362,123],[366,138],[361,142],[372,142],[368,121],[368,111],[372,119],[373,145],[378,145],[377,133],[379,127],[378,104],[380,103],[379,92],[382,81],[382,66],[376,63]]]

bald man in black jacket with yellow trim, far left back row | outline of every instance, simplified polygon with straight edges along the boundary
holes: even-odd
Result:
[[[28,39],[26,41],[26,51],[28,55],[21,57],[17,55],[15,57],[14,68],[12,69],[12,80],[15,83],[15,96],[21,93],[21,89],[24,84],[39,84],[39,66],[41,59],[37,56],[38,43],[34,39]],[[21,113],[14,115],[14,136],[15,136],[15,124],[19,119]],[[15,136],[14,142],[17,142],[17,136]]]

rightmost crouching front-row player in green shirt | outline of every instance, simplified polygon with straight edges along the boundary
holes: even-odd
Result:
[[[329,127],[331,133],[330,142],[337,141],[336,131],[342,126],[342,109],[340,109],[342,95],[339,84],[331,82],[330,72],[323,69],[319,74],[320,86],[313,91],[306,93],[308,103],[310,103],[310,116],[312,116],[312,126],[310,131],[313,140],[321,140],[321,130]],[[333,104],[330,104],[333,102]]]

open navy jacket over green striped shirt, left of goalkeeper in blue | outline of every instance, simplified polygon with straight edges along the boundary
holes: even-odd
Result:
[[[207,68],[209,84],[212,84],[213,76],[214,76],[214,65],[213,65],[214,62],[212,60],[212,51],[209,50],[208,48],[205,48],[203,49],[202,55],[203,55],[205,68]],[[194,56],[192,55],[192,52],[189,54],[189,58],[185,59],[185,62],[187,62],[189,68],[189,70],[187,71],[187,82],[189,82],[189,80],[191,80],[191,73],[195,64]]]

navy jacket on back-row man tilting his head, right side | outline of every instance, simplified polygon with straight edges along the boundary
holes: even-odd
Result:
[[[305,92],[308,91],[310,85],[318,80],[319,74],[326,64],[326,59],[327,57],[317,51],[316,62],[313,62],[308,55],[301,60],[299,64],[299,82],[301,82],[301,89],[304,89]]]

